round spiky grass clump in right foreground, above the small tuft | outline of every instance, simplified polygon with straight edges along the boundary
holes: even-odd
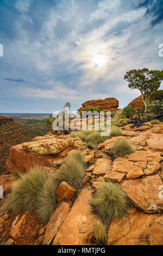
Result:
[[[106,181],[102,182],[93,195],[91,205],[101,218],[106,218],[109,222],[114,218],[122,218],[129,208],[128,199],[121,187]]]

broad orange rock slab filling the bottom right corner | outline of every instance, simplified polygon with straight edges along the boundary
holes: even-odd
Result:
[[[162,245],[163,215],[130,209],[121,220],[114,220],[108,230],[107,245]]]

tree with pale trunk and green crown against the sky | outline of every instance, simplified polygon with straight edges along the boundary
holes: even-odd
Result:
[[[145,104],[145,112],[147,112],[147,102],[153,92],[159,89],[163,80],[163,70],[133,69],[126,72],[124,79],[128,81],[128,87],[131,90],[140,90]]]

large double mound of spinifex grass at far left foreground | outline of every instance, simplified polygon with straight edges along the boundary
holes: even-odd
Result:
[[[57,205],[55,200],[57,185],[54,175],[35,166],[27,173],[16,175],[16,179],[12,192],[1,210],[15,214],[20,210],[37,210],[41,220],[47,222]]]

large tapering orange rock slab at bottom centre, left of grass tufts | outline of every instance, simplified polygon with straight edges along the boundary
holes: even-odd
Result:
[[[91,213],[91,197],[91,187],[84,188],[55,236],[53,245],[90,245],[94,241],[96,217]]]

